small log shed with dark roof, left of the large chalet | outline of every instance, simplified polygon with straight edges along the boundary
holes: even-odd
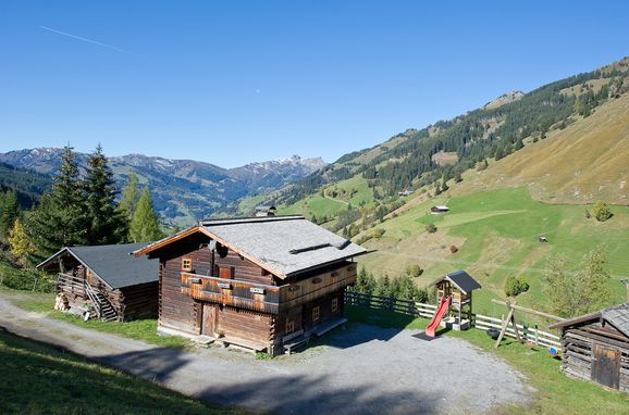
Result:
[[[59,273],[57,293],[65,307],[89,309],[104,320],[155,317],[158,261],[131,253],[146,243],[66,247],[37,269]]]

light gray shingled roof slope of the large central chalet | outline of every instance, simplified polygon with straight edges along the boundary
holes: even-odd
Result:
[[[279,276],[357,256],[367,250],[304,216],[206,221],[202,229]]]

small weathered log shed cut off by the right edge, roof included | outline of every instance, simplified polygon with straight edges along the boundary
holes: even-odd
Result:
[[[629,302],[555,323],[562,336],[562,370],[629,392]]]

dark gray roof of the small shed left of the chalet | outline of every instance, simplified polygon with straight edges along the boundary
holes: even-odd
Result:
[[[159,262],[131,255],[131,252],[144,247],[146,243],[66,247],[37,265],[37,268],[46,269],[58,257],[70,254],[113,289],[157,281]]]

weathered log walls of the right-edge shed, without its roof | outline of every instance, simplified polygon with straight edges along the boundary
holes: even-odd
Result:
[[[565,374],[629,392],[629,338],[610,326],[591,323],[562,334]]]

